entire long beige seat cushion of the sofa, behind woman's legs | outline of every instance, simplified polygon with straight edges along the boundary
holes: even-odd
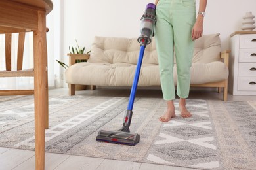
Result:
[[[136,65],[129,63],[77,63],[66,71],[66,82],[96,86],[131,86]],[[177,85],[176,65],[173,68]],[[190,84],[220,82],[228,78],[223,62],[192,63]],[[160,86],[158,65],[142,64],[138,86]]]

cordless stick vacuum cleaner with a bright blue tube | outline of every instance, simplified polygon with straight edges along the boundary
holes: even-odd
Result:
[[[100,130],[98,132],[98,136],[96,137],[97,141],[126,144],[130,146],[135,146],[135,144],[139,143],[140,141],[140,135],[137,133],[130,133],[129,126],[131,125],[131,118],[133,116],[133,103],[137,90],[137,84],[139,81],[140,68],[144,56],[144,50],[146,48],[146,45],[150,44],[151,42],[155,23],[156,5],[154,5],[153,3],[149,3],[148,5],[146,5],[146,10],[141,18],[140,37],[138,38],[138,42],[140,43],[139,59],[137,62],[133,85],[131,87],[127,111],[123,118],[123,127],[119,129],[119,131]]]

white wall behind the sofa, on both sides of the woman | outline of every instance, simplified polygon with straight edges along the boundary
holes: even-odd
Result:
[[[191,0],[194,1],[194,0]],[[106,37],[137,37],[140,17],[147,3],[154,0],[64,0],[62,61],[68,63],[68,46],[90,50],[95,35]],[[196,0],[198,9],[199,0]],[[256,15],[256,0],[209,0],[204,33],[221,33],[222,49],[230,48],[230,34],[240,31],[242,16]]]

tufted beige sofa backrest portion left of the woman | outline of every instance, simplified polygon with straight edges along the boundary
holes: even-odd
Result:
[[[88,62],[137,64],[140,44],[137,38],[95,37]],[[143,63],[158,64],[156,44],[146,46]]]

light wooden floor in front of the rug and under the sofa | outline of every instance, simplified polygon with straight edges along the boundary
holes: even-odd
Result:
[[[77,92],[77,95],[107,95],[107,96],[125,96],[129,97],[129,89],[110,89],[101,88],[97,90],[83,90]],[[53,89],[49,90],[49,95],[68,94],[68,89]],[[137,90],[137,97],[162,97],[160,90]],[[223,94],[213,91],[192,91],[190,92],[190,99],[223,99]],[[256,100],[256,96],[233,96],[228,95],[228,100],[233,101],[252,101]],[[0,169],[1,170],[30,170],[35,169],[35,152],[28,150],[19,150],[12,148],[0,147]],[[58,169],[58,170],[114,170],[114,169],[127,169],[127,170],[192,170],[186,167],[172,167],[166,165],[155,165],[149,163],[138,163],[131,161],[117,161],[108,160],[103,158],[91,158],[85,156],[72,156],[66,154],[45,154],[45,169]]]

